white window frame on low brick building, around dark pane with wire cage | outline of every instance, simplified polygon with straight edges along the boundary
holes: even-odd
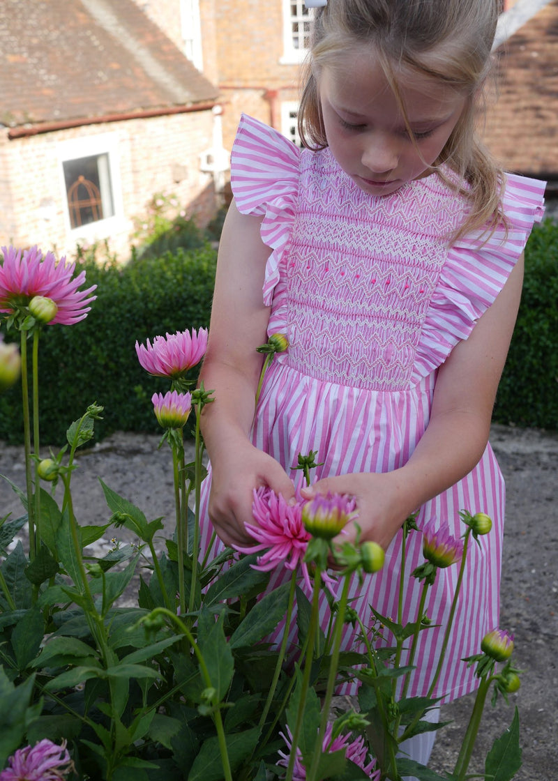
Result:
[[[118,135],[116,133],[102,133],[96,136],[84,136],[71,138],[68,141],[60,141],[57,144],[59,165],[59,179],[64,206],[64,222],[66,233],[75,241],[96,241],[107,238],[112,234],[123,230],[123,206],[122,186],[120,182],[120,158],[118,155]],[[106,155],[108,160],[108,174],[110,179],[110,194],[112,196],[113,215],[97,219],[94,223],[87,223],[75,228],[70,222],[70,208],[68,205],[68,193],[66,179],[64,177],[64,163],[84,157],[98,157]],[[102,190],[102,187],[101,187]]]

